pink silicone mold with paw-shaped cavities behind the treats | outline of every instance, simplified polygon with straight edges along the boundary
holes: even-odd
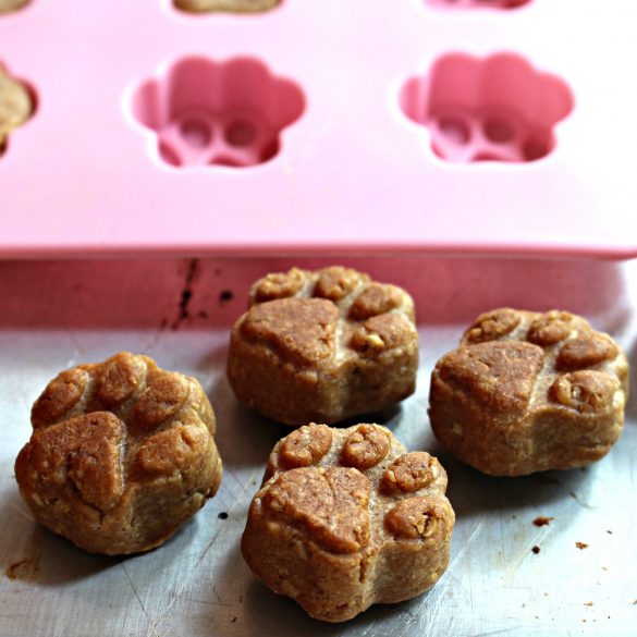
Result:
[[[593,0],[33,0],[0,256],[637,256],[637,41]],[[591,34],[600,46],[591,46]]]

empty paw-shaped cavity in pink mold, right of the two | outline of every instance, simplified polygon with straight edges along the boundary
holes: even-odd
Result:
[[[451,53],[400,94],[403,112],[427,126],[441,159],[526,162],[555,147],[555,125],[573,109],[567,84],[524,58]]]

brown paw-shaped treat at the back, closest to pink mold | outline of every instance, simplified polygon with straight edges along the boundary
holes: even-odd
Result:
[[[298,426],[369,414],[414,392],[414,302],[356,270],[293,268],[257,281],[232,330],[228,377],[237,399]]]

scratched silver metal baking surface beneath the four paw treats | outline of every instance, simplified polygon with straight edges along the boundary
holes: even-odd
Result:
[[[419,299],[417,393],[385,421],[407,448],[439,456],[457,523],[450,567],[430,592],[341,625],[310,620],[274,596],[238,551],[265,460],[287,430],[235,402],[223,369],[226,323],[242,310],[248,280],[271,265],[0,262],[0,636],[636,634],[635,396],[604,460],[518,479],[487,478],[451,458],[432,438],[426,406],[430,370],[456,344],[462,323],[512,301],[587,314],[616,335],[635,367],[637,264],[369,264]],[[444,289],[434,297],[445,299],[442,309],[422,294],[437,286]],[[37,526],[17,493],[13,462],[29,436],[30,404],[48,380],[122,348],[200,379],[219,421],[224,477],[218,495],[166,546],[110,559]],[[536,527],[538,516],[552,520]]]

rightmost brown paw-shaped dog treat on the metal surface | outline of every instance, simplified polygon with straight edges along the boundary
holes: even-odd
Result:
[[[624,424],[628,363],[566,311],[495,309],[431,375],[437,438],[485,474],[571,469],[603,457]]]

